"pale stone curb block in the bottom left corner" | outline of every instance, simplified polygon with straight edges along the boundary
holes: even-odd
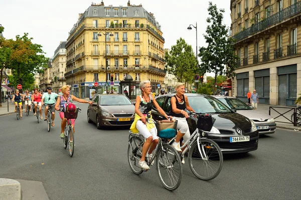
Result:
[[[0,178],[0,196],[2,200],[21,200],[21,183],[9,178]]]

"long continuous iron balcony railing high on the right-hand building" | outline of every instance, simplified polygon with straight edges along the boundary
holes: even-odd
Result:
[[[301,1],[281,10],[278,13],[275,13],[274,15],[252,25],[248,29],[241,31],[237,33],[235,36],[233,36],[233,39],[236,39],[237,41],[242,40],[252,34],[261,32],[262,30],[275,25],[283,20],[286,20],[298,13],[301,13]]]

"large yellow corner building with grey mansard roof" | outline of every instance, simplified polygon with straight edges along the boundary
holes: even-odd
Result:
[[[149,80],[153,91],[160,92],[158,84],[164,84],[166,75],[162,34],[154,14],[141,5],[130,5],[129,1],[127,7],[92,3],[79,15],[66,44],[65,78],[72,94],[89,97],[95,82],[102,93],[106,80],[110,88],[122,93],[119,83],[128,74],[136,82],[132,95],[139,93],[141,80]]]

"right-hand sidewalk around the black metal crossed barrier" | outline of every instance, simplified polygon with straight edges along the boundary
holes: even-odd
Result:
[[[292,106],[275,106],[275,105],[268,105],[268,104],[258,104],[258,108],[256,109],[259,112],[265,113],[265,114],[269,114],[269,108],[270,106],[272,107],[281,107],[281,108],[274,108],[277,112],[279,112],[280,114],[283,114],[285,112],[287,112],[289,109],[292,109],[290,111],[288,111],[287,113],[284,114],[284,116],[290,120],[290,116],[293,113],[293,108]],[[277,113],[275,110],[273,110],[271,108],[271,112],[270,112],[270,116],[272,116],[273,118],[276,118],[276,124],[277,124],[277,128],[285,128],[285,129],[290,129],[290,130],[299,130],[301,131],[301,127],[300,126],[293,126],[292,123],[288,124],[288,123],[283,123],[283,122],[289,122],[285,117],[283,116],[279,116],[280,114]]]

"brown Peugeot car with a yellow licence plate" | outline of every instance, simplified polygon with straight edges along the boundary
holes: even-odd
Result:
[[[129,126],[134,121],[135,107],[122,94],[95,94],[92,105],[88,106],[88,122],[102,126]]]

